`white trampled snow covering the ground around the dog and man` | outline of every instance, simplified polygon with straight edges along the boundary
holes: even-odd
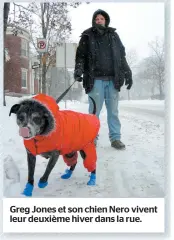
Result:
[[[8,116],[10,107],[19,98],[7,97],[3,108],[3,159],[4,196],[21,195],[27,181],[27,160],[23,141],[18,134],[15,115]],[[38,156],[35,169],[33,197],[164,197],[164,118],[143,112],[127,111],[124,107],[142,105],[164,108],[164,101],[121,101],[120,120],[122,141],[126,150],[118,151],[110,146],[106,109],[101,112],[100,138],[97,146],[97,185],[87,186],[89,173],[79,156],[77,168],[71,179],[62,180],[66,165],[60,156],[45,189],[37,186],[47,160]],[[64,109],[64,102],[60,103]],[[87,113],[88,104],[67,102],[67,109]]]

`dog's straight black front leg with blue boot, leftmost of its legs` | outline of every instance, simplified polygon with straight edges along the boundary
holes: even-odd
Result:
[[[28,162],[28,183],[25,186],[23,194],[27,197],[32,196],[33,184],[34,184],[34,171],[36,165],[36,157],[27,151]]]

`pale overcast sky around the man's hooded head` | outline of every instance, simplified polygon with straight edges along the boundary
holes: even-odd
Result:
[[[110,15],[110,26],[117,29],[126,50],[136,49],[140,58],[149,54],[148,42],[158,36],[164,38],[164,3],[83,3],[70,10],[72,36],[79,42],[79,36],[91,27],[94,11],[103,9]]]

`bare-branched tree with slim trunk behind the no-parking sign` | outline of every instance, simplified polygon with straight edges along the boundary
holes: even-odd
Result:
[[[46,93],[46,74],[51,64],[55,63],[56,45],[68,39],[71,34],[71,22],[68,18],[68,8],[78,7],[80,3],[53,2],[30,3],[27,7],[14,3],[14,29],[17,26],[26,28],[31,35],[31,42],[37,51],[37,38],[47,41],[47,52],[40,54],[42,65],[42,93]],[[41,89],[41,86],[40,86]]]

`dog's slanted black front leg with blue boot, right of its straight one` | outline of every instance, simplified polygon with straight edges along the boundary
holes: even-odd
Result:
[[[47,164],[47,167],[46,167],[46,170],[45,170],[45,173],[44,175],[40,178],[40,181],[38,183],[38,186],[40,188],[44,188],[48,185],[48,177],[52,171],[52,169],[54,168],[57,160],[59,158],[59,152],[58,151],[54,151],[52,154],[51,154],[51,157],[50,157],[50,160]]]

